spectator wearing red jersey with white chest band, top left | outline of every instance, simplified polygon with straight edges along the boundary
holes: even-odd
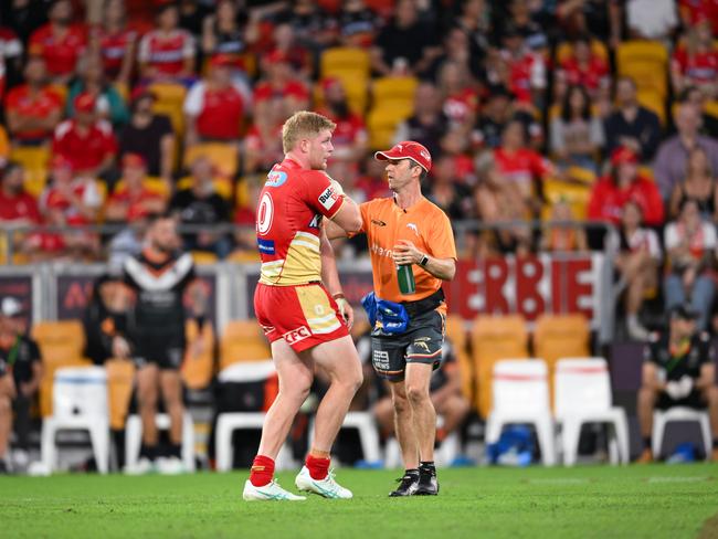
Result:
[[[158,8],[156,28],[139,42],[142,78],[186,83],[194,77],[194,38],[178,24],[177,4],[166,3]]]

